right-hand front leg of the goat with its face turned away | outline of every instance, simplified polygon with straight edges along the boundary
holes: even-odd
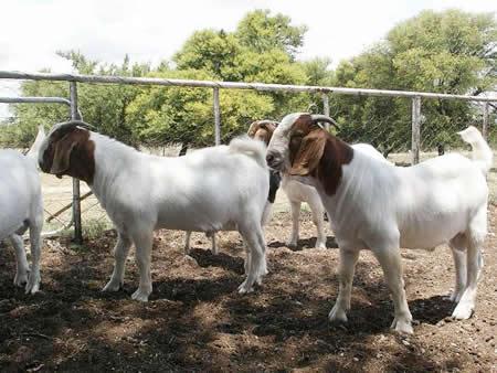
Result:
[[[133,235],[136,246],[136,264],[140,274],[140,284],[131,298],[140,301],[148,301],[148,296],[152,291],[150,260],[152,247],[152,231],[142,231]]]

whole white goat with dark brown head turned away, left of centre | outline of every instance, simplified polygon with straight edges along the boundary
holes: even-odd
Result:
[[[134,243],[140,281],[133,299],[147,301],[152,291],[150,256],[157,228],[236,228],[247,246],[247,276],[239,292],[250,292],[255,281],[262,281],[267,270],[261,217],[269,189],[264,157],[265,146],[247,138],[183,157],[157,157],[73,120],[52,128],[39,162],[44,172],[85,181],[113,221],[118,233],[115,266],[103,290],[121,287]]]

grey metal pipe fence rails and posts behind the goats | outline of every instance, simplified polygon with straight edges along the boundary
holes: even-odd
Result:
[[[168,78],[147,78],[147,77],[125,77],[125,76],[98,76],[98,75],[80,75],[80,74],[47,74],[47,73],[22,73],[0,71],[0,79],[28,79],[28,81],[52,81],[68,82],[70,97],[0,97],[0,103],[50,103],[64,104],[70,107],[71,118],[80,117],[77,105],[77,83],[94,84],[126,84],[126,85],[155,85],[155,86],[178,86],[178,87],[200,87],[213,89],[213,117],[214,117],[214,139],[215,145],[221,143],[221,107],[220,107],[220,89],[253,89],[258,92],[288,92],[288,93],[313,93],[320,94],[322,99],[322,111],[325,115],[330,114],[329,95],[355,95],[355,96],[380,96],[396,97],[411,99],[411,162],[420,161],[420,151],[422,145],[422,99],[458,99],[482,104],[482,130],[486,137],[489,130],[489,111],[491,103],[497,103],[497,97],[477,97],[465,95],[448,95],[424,92],[404,92],[404,90],[384,90],[384,89],[366,89],[366,88],[345,88],[345,87],[326,87],[326,86],[300,86],[300,85],[282,85],[282,84],[263,84],[263,83],[235,83],[235,82],[209,82],[209,81],[188,81],[188,79],[168,79]],[[72,204],[66,204],[62,209],[52,213],[52,219],[57,219],[62,213],[66,213],[71,209],[70,223],[74,225],[74,239],[81,243],[83,238],[82,231],[82,200],[88,196],[86,192],[81,195],[80,182],[73,179]],[[93,200],[85,211],[92,210],[97,202]],[[62,212],[61,212],[62,211]],[[99,217],[102,219],[102,217]]]

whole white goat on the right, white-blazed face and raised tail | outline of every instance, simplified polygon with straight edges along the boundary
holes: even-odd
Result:
[[[360,151],[324,131],[330,118],[289,114],[273,134],[266,161],[314,185],[331,220],[340,248],[339,294],[329,313],[347,321],[360,249],[379,260],[393,303],[392,328],[412,333],[402,278],[400,247],[434,248],[448,243],[456,268],[452,300],[455,319],[468,319],[483,267],[480,248],[487,234],[488,172],[493,153],[479,131],[459,132],[473,160],[457,153],[402,168]]]

